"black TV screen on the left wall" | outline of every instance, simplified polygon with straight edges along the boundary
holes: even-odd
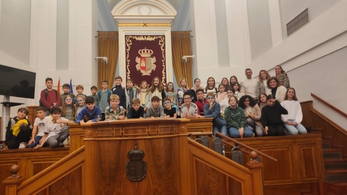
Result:
[[[36,73],[0,64],[0,95],[35,98]]]

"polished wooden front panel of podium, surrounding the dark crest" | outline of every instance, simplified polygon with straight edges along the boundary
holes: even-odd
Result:
[[[129,161],[127,152],[134,149],[135,143],[144,150],[143,160],[147,162],[147,176],[141,182],[131,182],[125,174],[125,164]],[[96,175],[97,194],[180,194],[179,145],[178,138],[172,137],[99,141],[95,167],[99,173]]]

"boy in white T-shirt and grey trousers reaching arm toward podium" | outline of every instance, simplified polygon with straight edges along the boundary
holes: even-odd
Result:
[[[92,98],[92,97],[90,97]],[[52,120],[47,123],[46,132],[43,140],[46,140],[49,147],[64,147],[64,140],[69,136],[70,127],[68,123],[74,123],[66,118],[60,117],[61,110],[59,107],[53,107]],[[47,136],[47,138],[46,138]],[[40,146],[36,146],[38,148]]]

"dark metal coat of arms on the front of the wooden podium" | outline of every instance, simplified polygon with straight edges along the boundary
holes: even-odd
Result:
[[[137,182],[143,180],[147,175],[147,163],[143,161],[144,151],[138,149],[137,144],[133,150],[129,150],[127,157],[130,161],[126,162],[126,177],[132,181]]]

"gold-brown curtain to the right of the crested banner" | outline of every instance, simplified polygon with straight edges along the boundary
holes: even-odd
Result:
[[[172,31],[171,45],[172,67],[174,68],[176,80],[179,82],[182,77],[186,78],[187,86],[191,88],[193,83],[192,58],[187,58],[186,63],[183,63],[182,60],[184,55],[191,55],[190,31]]]

